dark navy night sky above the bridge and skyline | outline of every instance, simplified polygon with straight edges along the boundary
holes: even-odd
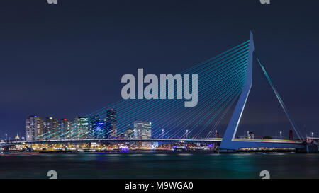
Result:
[[[319,133],[318,1],[3,1],[0,135],[28,115],[72,119],[121,99],[121,76],[177,74],[249,39],[301,129]],[[238,135],[275,135],[288,119],[254,62]],[[260,129],[259,129],[260,128]]]

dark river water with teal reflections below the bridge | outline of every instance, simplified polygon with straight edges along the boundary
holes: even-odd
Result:
[[[319,153],[41,153],[0,156],[0,178],[319,178]]]

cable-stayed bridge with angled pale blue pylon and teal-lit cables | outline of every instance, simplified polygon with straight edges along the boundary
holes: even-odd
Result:
[[[252,65],[256,59],[262,68],[264,75],[272,87],[276,98],[291,123],[299,141],[290,140],[262,140],[262,139],[236,139],[237,128],[240,125],[242,112],[245,110],[247,98],[252,87]],[[236,151],[240,148],[304,148],[305,142],[296,123],[284,105],[274,84],[270,80],[264,66],[254,52],[253,35],[250,40],[242,42],[228,49],[218,56],[208,59],[180,73],[198,74],[198,105],[196,107],[184,107],[185,100],[119,100],[101,110],[91,112],[90,124],[103,125],[107,118],[107,112],[114,109],[117,112],[116,133],[124,133],[128,127],[133,127],[135,121],[152,123],[152,139],[127,139],[121,136],[111,137],[114,130],[106,126],[90,129],[82,134],[74,135],[77,128],[61,133],[60,131],[47,131],[38,136],[36,141],[24,141],[26,144],[44,143],[89,143],[89,142],[187,142],[187,143],[219,143],[220,151]],[[191,83],[191,81],[190,81]],[[185,89],[183,83],[172,81],[167,87],[177,90]],[[159,86],[159,90],[162,87]],[[166,86],[165,86],[166,88]],[[152,90],[154,91],[154,90]],[[192,91],[192,88],[190,88]],[[223,138],[216,138],[218,124],[233,110],[232,116],[225,130]],[[94,118],[92,118],[94,117]],[[215,136],[214,136],[215,135]],[[21,142],[11,142],[18,144]],[[0,146],[9,145],[2,143]]]

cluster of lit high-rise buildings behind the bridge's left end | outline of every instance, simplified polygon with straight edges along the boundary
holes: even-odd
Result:
[[[106,118],[76,116],[73,120],[30,115],[26,119],[26,141],[57,139],[152,139],[151,122],[134,121],[121,133],[116,131],[116,110],[107,110]],[[18,136],[18,134],[17,134]],[[21,136],[20,136],[21,137]],[[6,141],[8,136],[6,136]]]

